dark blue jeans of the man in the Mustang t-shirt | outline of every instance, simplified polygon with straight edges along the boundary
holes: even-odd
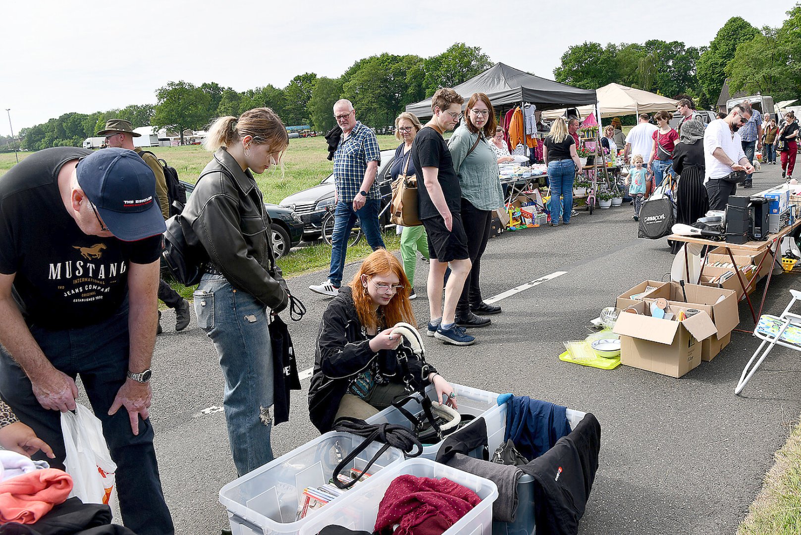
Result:
[[[111,458],[117,465],[119,509],[126,527],[142,535],[175,533],[164,502],[150,419],[143,420],[140,416],[139,435],[134,435],[125,407],[108,416],[128,370],[127,304],[115,316],[89,327],[48,331],[33,326],[30,332],[56,369],[73,379],[81,376],[89,403],[103,424]],[[26,373],[4,349],[0,349],[0,394],[18,418],[50,444],[56,455],[55,459],[48,459],[40,452],[34,458],[63,469],[66,453],[61,413],[42,408]]]

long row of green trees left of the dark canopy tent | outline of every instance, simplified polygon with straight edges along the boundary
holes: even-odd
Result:
[[[23,128],[19,137],[22,148],[28,150],[80,146],[102,130],[107,119],[119,117],[134,127],[167,127],[183,138],[184,130],[203,129],[216,117],[264,106],[275,110],[287,126],[308,124],[317,131],[328,131],[335,124],[332,107],[340,98],[352,101],[363,123],[384,127],[392,124],[406,104],[433,95],[439,87],[456,85],[489,66],[489,57],[481,48],[456,43],[430,58],[380,54],[360,59],[339,78],[299,74],[283,88],[268,84],[239,92],[217,82],[199,86],[183,80],[167,82],[155,92],[155,104],[93,114],[66,113]]]

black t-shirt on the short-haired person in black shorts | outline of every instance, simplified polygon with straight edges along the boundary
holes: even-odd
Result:
[[[417,180],[417,208],[420,211],[420,219],[436,217],[440,211],[434,206],[429,196],[429,191],[425,188],[423,180],[423,167],[437,167],[437,180],[442,187],[442,194],[445,195],[445,203],[453,214],[458,214],[461,210],[461,186],[456,171],[453,171],[453,159],[451,158],[448,144],[445,138],[432,127],[425,127],[414,136],[412,143],[412,163],[414,168],[419,171]]]

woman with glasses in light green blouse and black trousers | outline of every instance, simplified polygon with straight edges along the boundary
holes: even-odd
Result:
[[[485,316],[501,312],[501,307],[485,304],[479,288],[481,255],[487,247],[493,210],[503,205],[497,156],[487,141],[495,134],[496,127],[489,97],[473,93],[465,108],[465,119],[453,131],[448,146],[453,169],[459,175],[461,219],[473,263],[456,309],[456,324],[464,328],[485,327],[491,323]]]

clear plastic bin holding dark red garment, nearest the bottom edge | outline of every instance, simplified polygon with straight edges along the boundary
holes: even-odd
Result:
[[[384,469],[380,474],[359,485],[354,493],[340,498],[336,505],[320,509],[320,513],[300,529],[300,535],[317,535],[320,529],[327,525],[341,525],[348,529],[372,533],[378,517],[378,505],[384,498],[389,484],[396,477],[405,474],[417,477],[447,477],[450,481],[473,490],[481,497],[481,503],[461,517],[443,535],[491,535],[493,501],[498,496],[495,484],[472,473],[462,472],[420,457],[407,459]]]

